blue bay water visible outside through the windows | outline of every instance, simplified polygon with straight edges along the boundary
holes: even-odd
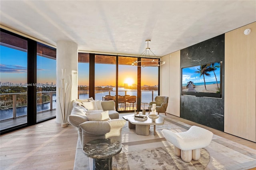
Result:
[[[110,95],[116,95],[116,88],[113,88],[114,91],[110,91]],[[137,91],[136,90],[130,90],[130,89],[124,89],[119,87],[118,88],[118,94],[119,95],[134,95],[137,96]],[[102,100],[102,96],[109,95],[108,91],[106,92],[100,92],[100,93],[95,93],[95,100]],[[158,91],[153,91],[153,99],[158,95]],[[79,99],[88,99],[89,94],[80,94]],[[56,100],[56,94],[52,95],[53,101]],[[152,91],[142,91],[142,99],[141,102],[151,102],[152,101]],[[143,106],[143,105],[142,105]],[[56,109],[56,102],[52,102],[52,109]],[[6,110],[0,110],[0,121],[6,120],[6,119],[12,119],[13,117],[13,109],[6,109]],[[39,104],[37,105],[37,112],[41,111],[48,111],[50,110],[50,103],[44,103],[44,104]],[[16,116],[24,116],[27,115],[27,107],[17,107],[16,108]]]

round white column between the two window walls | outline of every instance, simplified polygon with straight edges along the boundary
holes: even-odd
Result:
[[[68,110],[68,115],[70,115],[71,109],[72,109],[72,100],[77,99],[78,89],[78,76],[77,76],[77,70],[78,70],[78,46],[74,42],[70,41],[58,41],[57,42],[57,56],[56,56],[56,123],[63,123],[62,122],[62,112],[63,112],[63,106],[62,109],[60,108],[60,103],[63,105],[63,100],[59,96],[62,97],[62,95],[59,95],[58,88],[62,87],[62,69],[66,69],[65,72],[65,83],[68,83],[69,89],[68,94],[66,95],[66,110]],[[72,77],[72,82],[70,77]],[[71,86],[72,85],[72,86]],[[71,92],[70,92],[71,90]],[[68,105],[69,101],[69,105]],[[61,112],[62,110],[62,112]]]

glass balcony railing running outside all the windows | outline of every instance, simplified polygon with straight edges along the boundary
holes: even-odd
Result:
[[[158,91],[154,90],[142,90],[141,97],[141,109],[146,108],[150,101],[154,101],[154,98],[158,95]],[[136,90],[121,90],[118,91],[119,95],[135,95],[137,96]],[[106,95],[116,95],[116,91],[95,91],[95,100],[104,100]],[[89,91],[78,91],[78,98],[87,99],[89,98]],[[16,119],[18,117],[24,117],[27,115],[26,109],[22,113],[19,113],[17,109],[27,107],[27,93],[2,93],[0,94],[1,103],[1,119],[0,121],[6,121],[9,119]],[[37,113],[45,111],[52,111],[56,109],[56,91],[42,91],[37,92]],[[40,105],[48,105],[42,107]],[[128,111],[128,109],[125,109]],[[130,110],[130,109],[129,109]]]

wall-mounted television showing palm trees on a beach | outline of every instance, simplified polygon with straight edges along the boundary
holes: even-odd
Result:
[[[216,97],[222,95],[222,61],[182,68],[182,95]]]

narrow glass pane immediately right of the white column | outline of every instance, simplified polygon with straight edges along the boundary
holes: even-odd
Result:
[[[89,53],[78,53],[78,98],[89,98]]]

